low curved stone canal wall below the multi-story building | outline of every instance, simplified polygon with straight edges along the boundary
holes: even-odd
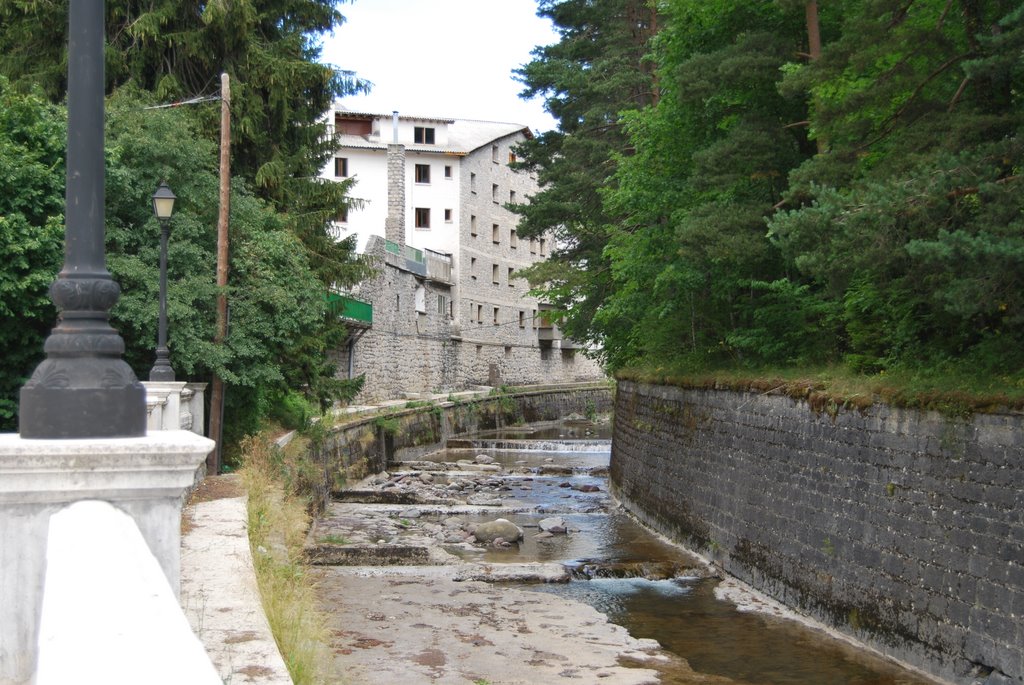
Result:
[[[607,382],[527,386],[484,396],[410,401],[342,420],[312,447],[313,462],[323,469],[323,487],[314,500],[326,505],[345,483],[386,471],[392,462],[440,449],[455,435],[555,421],[569,414],[608,414],[613,388]]]

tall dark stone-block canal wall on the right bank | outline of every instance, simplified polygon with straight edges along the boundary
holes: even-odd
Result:
[[[883,653],[1024,682],[1019,413],[620,381],[610,476],[647,525]]]

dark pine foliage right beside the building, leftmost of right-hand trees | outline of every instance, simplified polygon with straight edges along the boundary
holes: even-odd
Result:
[[[556,307],[567,335],[599,343],[591,320],[610,287],[604,248],[614,221],[601,188],[628,146],[618,113],[656,96],[647,59],[655,11],[648,0],[542,0],[538,14],[560,40],[536,48],[516,76],[522,95],[543,96],[559,127],[519,148],[520,166],[537,173],[541,190],[515,210],[520,236],[548,231],[557,240],[549,261],[519,274]]]

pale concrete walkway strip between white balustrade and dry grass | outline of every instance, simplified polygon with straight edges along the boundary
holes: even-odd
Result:
[[[181,608],[223,682],[290,685],[260,603],[238,476],[204,480],[181,528]]]

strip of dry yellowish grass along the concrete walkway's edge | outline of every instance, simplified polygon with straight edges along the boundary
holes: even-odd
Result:
[[[327,682],[326,616],[302,562],[309,527],[306,499],[288,483],[291,469],[266,434],[242,443],[241,475],[249,495],[249,544],[263,610],[296,685]]]

